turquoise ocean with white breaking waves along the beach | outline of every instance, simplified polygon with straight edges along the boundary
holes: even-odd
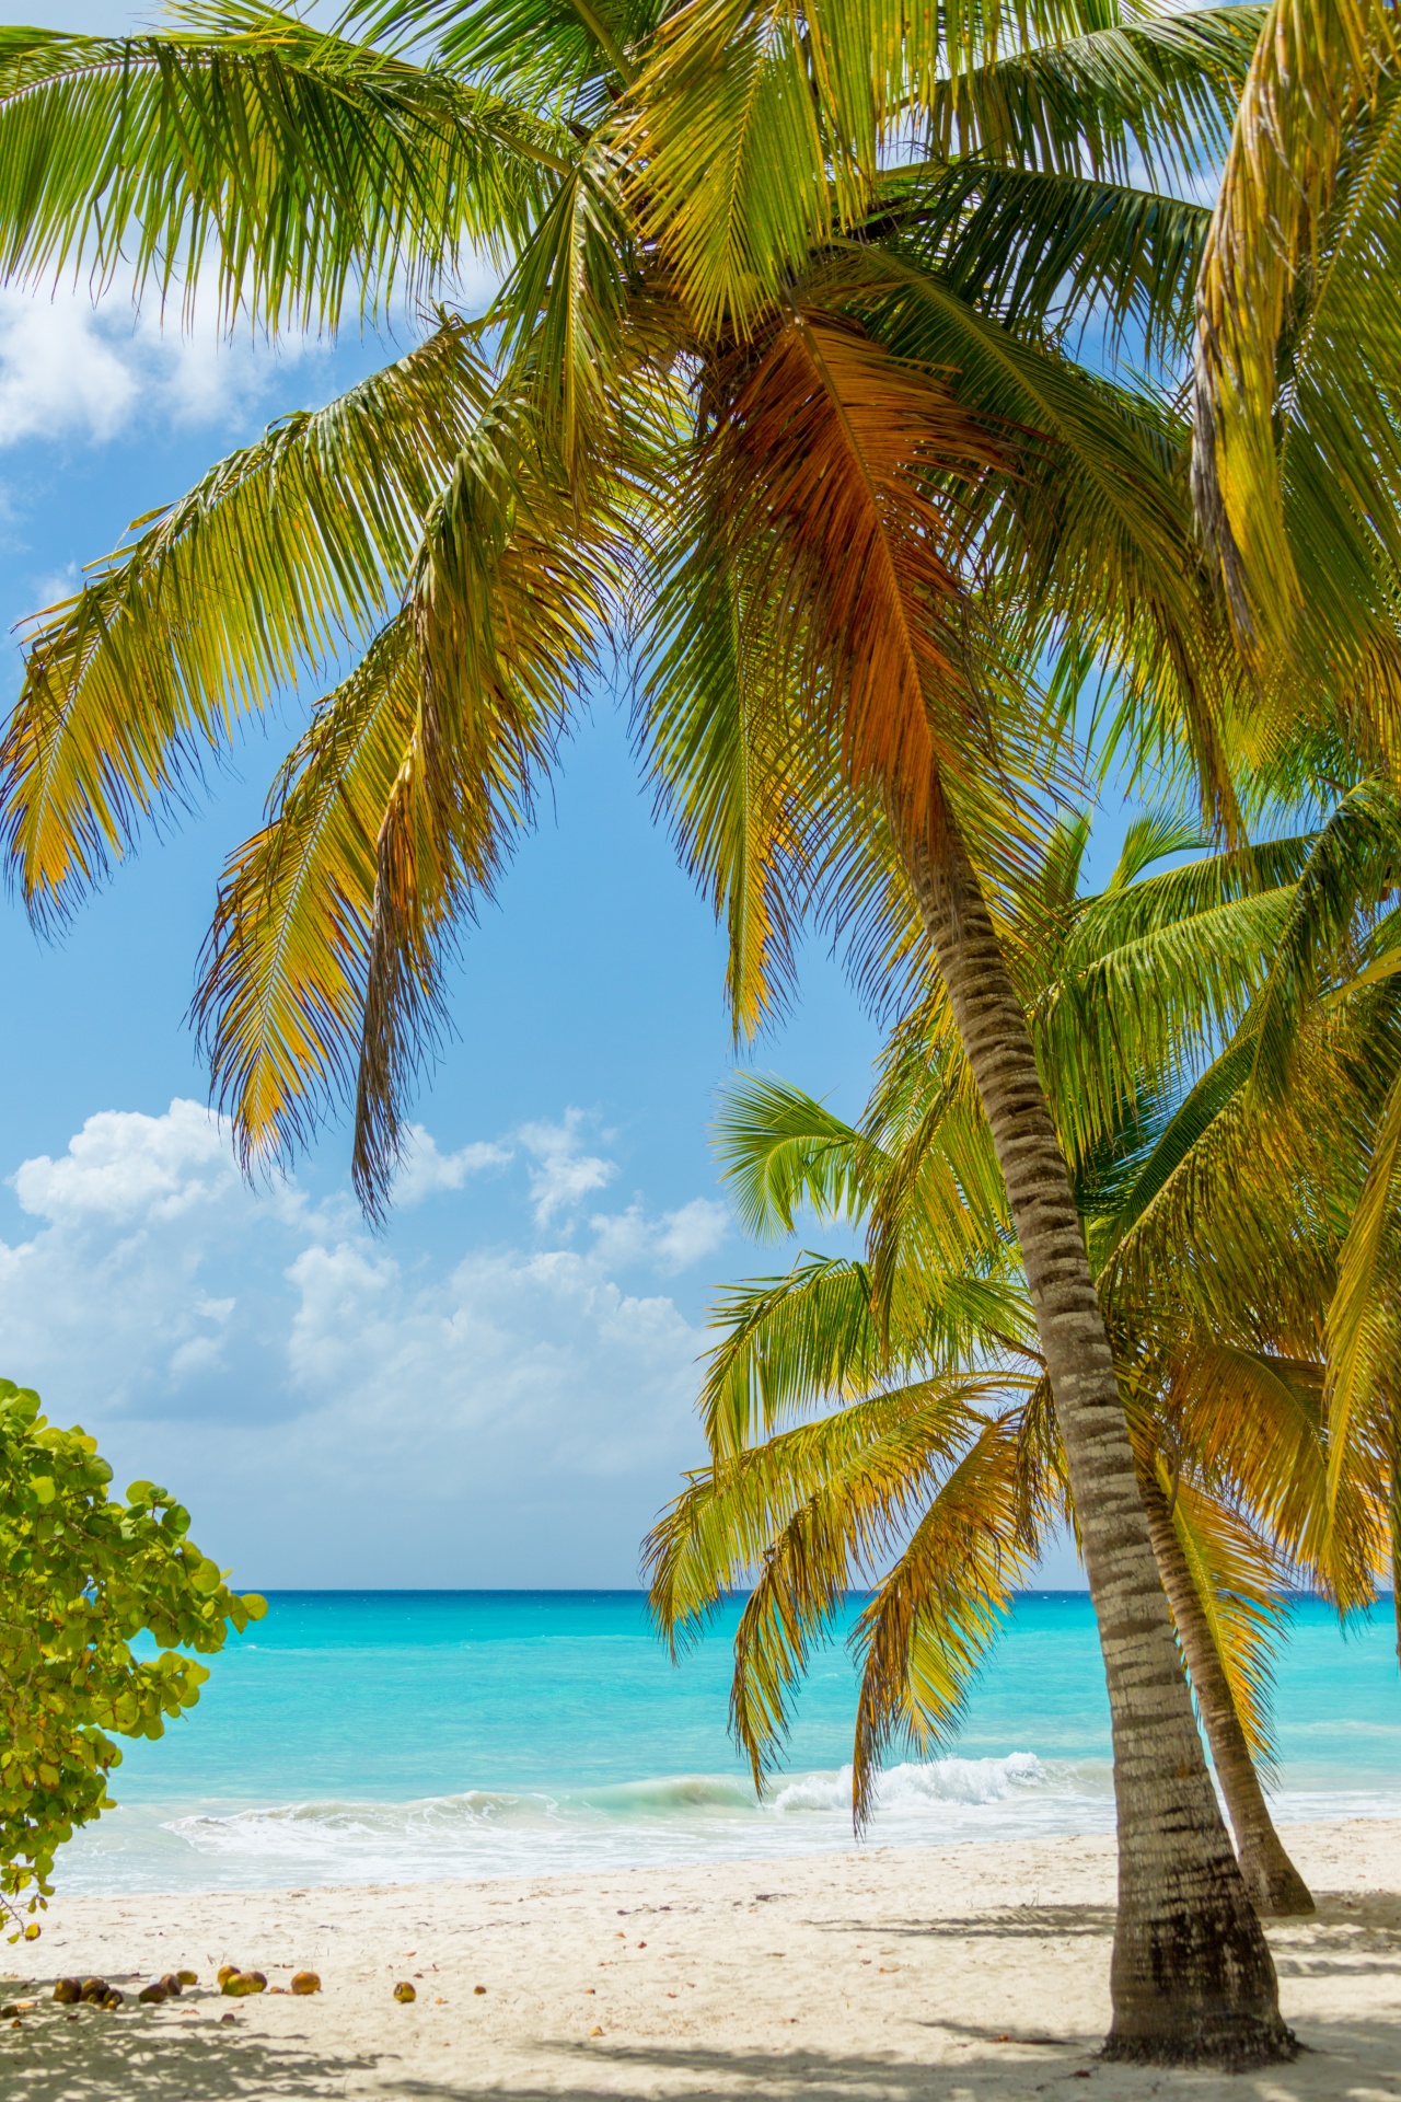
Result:
[[[853,1602],[853,1616],[857,1602]],[[727,1736],[739,1604],[681,1665],[636,1591],[281,1591],[197,1709],[124,1747],[120,1808],[61,1888],[229,1890],[540,1875],[853,1846],[855,1673],[838,1640],[762,1799]],[[1281,1818],[1401,1816],[1388,1602],[1300,1602],[1275,1690]],[[870,1841],[1111,1825],[1090,1604],[1023,1593],[943,1757],[884,1774]]]

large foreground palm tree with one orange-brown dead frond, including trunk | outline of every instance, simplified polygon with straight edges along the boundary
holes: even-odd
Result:
[[[200,1019],[246,1158],[353,1087],[374,1211],[443,944],[609,635],[660,639],[649,738],[733,904],[741,1024],[813,870],[895,841],[987,1108],[1101,1616],[1109,2052],[1288,2056],[987,904],[1044,801],[1025,666],[1057,637],[1231,822],[1246,687],[1185,433],[1061,345],[1092,324],[1180,349],[1206,214],[1172,185],[1218,145],[1256,17],[1048,0],[1012,32],[844,0],[798,29],[521,0],[391,6],[359,42],[254,6],[191,23],[0,38],[13,277],[88,261],[189,296],[210,265],[229,315],[334,328],[347,301],[433,294],[468,242],[508,275],[485,330],[447,315],[221,462],[32,633],[4,744],[23,895],[63,912],[237,715],[363,647],[229,864]]]

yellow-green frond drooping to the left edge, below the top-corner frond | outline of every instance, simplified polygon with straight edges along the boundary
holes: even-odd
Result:
[[[471,332],[443,322],[139,519],[38,616],[0,746],[0,837],[38,919],[126,853],[239,715],[384,618],[485,387]]]

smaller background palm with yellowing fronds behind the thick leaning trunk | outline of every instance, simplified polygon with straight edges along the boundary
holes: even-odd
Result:
[[[1254,1009],[1279,988],[1292,929],[1317,919],[1319,874],[1348,818],[1344,805],[1313,841],[1147,883],[1155,860],[1199,843],[1180,824],[1138,820],[1096,898],[1078,895],[1088,828],[1065,826],[1004,937],[1071,1135],[1153,1547],[1241,1869],[1256,1907],[1277,1915],[1313,1900],[1252,1757],[1269,1745],[1267,1637],[1296,1570],[1344,1608],[1369,1598],[1384,1497],[1365,1452],[1348,1455],[1344,1507],[1330,1497],[1321,1366],[1302,1356],[1321,1339],[1336,1261],[1336,1234],[1319,1246],[1306,1217],[1340,1192],[1346,1202],[1359,1181],[1344,1169],[1357,1148],[1338,1110],[1359,1047],[1334,1040],[1304,1099],[1246,1116],[1243,1053],[1258,1045]],[[1395,811],[1390,837],[1395,862]],[[1355,862],[1355,874],[1365,908],[1367,870]],[[1168,990],[1153,996],[1153,984]],[[1376,1022],[1365,1064],[1395,1068]],[[1315,1036],[1317,1024],[1315,1013]],[[1225,1053],[1212,1057],[1222,1028]],[[1185,1093],[1164,1053],[1195,1078]],[[1046,1520],[1073,1522],[1073,1503],[1054,1436],[1048,1446],[1006,1207],[945,1003],[935,996],[897,1032],[859,1127],[796,1089],[748,1080],[731,1089],[718,1135],[750,1230],[792,1232],[809,1200],[823,1217],[865,1219],[867,1259],[809,1255],[725,1295],[702,1389],[712,1461],[649,1541],[653,1610],[676,1644],[756,1572],[731,1717],[760,1780],[809,1644],[851,1583],[874,1585],[853,1635],[865,1667],[853,1749],[861,1820],[880,1749],[899,1732],[928,1745],[956,1722],[1010,1583]],[[1189,1263],[1174,1259],[1185,1209]],[[1222,1270],[1227,1295],[1201,1303],[1199,1278]],[[832,1400],[836,1413],[811,1421]],[[981,1413],[989,1404],[996,1413]],[[794,1415],[792,1429],[775,1427]]]

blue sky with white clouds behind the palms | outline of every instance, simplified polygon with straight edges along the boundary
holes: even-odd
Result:
[[[118,27],[101,6],[29,11]],[[122,298],[0,292],[6,624],[126,521],[382,347],[273,357]],[[4,700],[19,683],[13,645]],[[723,948],[599,696],[464,946],[456,1040],[401,1202],[370,1238],[347,1133],[248,1190],[185,1028],[223,856],[302,721],[290,698],[74,923],[0,902],[0,1371],[168,1482],[263,1585],[626,1585],[678,1471],[710,1289],[777,1270],[716,1188]],[[876,1034],[813,952],[760,1066],[857,1110]],[[1054,1558],[1046,1581],[1078,1583]]]

